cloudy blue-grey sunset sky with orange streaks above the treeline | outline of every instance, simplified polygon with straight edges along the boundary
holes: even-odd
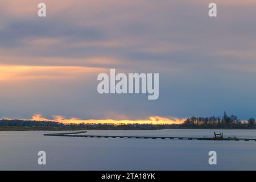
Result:
[[[214,18],[211,2],[0,0],[0,118],[256,118],[256,1],[214,1]],[[158,100],[99,94],[110,68],[159,73]]]

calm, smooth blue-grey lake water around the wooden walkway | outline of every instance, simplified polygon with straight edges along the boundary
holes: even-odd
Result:
[[[256,138],[256,130],[97,131],[88,135]],[[0,170],[255,170],[256,142],[49,137],[54,131],[0,131]],[[47,165],[38,165],[38,151]],[[217,152],[210,166],[208,152]]]

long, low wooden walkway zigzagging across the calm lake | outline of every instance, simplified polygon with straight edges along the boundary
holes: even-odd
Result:
[[[135,139],[171,139],[171,140],[217,140],[217,141],[255,141],[256,138],[200,138],[200,137],[143,137],[143,136],[116,136],[116,135],[76,135],[87,131],[76,131],[75,133],[44,134],[44,136],[59,137],[84,137],[84,138],[135,138]]]

